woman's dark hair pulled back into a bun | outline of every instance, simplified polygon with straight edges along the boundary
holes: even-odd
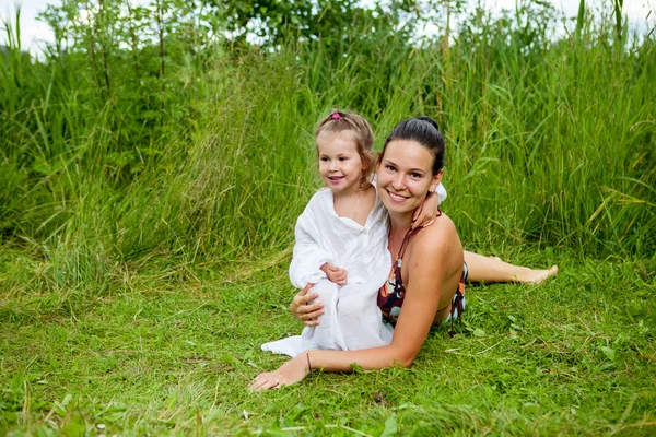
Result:
[[[383,144],[383,152],[380,152],[380,160],[385,156],[385,150],[387,144],[395,140],[410,140],[417,141],[424,147],[426,147],[433,155],[433,176],[435,176],[442,167],[444,167],[444,137],[440,132],[437,121],[431,117],[413,117],[401,121],[389,132],[385,144]]]

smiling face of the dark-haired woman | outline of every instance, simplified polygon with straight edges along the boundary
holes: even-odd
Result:
[[[417,141],[395,140],[376,164],[378,197],[390,213],[408,213],[434,191],[443,172],[433,176],[433,154]]]

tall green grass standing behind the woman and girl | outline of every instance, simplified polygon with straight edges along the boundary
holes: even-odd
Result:
[[[656,40],[618,50],[583,12],[554,40],[535,13],[477,11],[448,46],[354,34],[262,52],[98,32],[102,48],[56,45],[44,61],[5,25],[1,283],[104,292],[134,271],[280,259],[318,186],[313,130],[332,107],[366,116],[378,140],[409,116],[440,122],[444,210],[470,249],[652,257]]]

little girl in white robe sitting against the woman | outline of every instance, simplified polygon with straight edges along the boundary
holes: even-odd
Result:
[[[393,329],[382,322],[376,305],[391,259],[387,211],[372,185],[373,143],[371,126],[355,114],[333,111],[319,122],[319,174],[328,189],[313,196],[296,222],[290,279],[296,288],[313,284],[324,316],[301,335],[263,344],[263,351],[294,357],[307,350],[352,351],[391,341]],[[436,191],[442,199],[429,196],[423,208],[430,220],[446,198],[442,186]]]

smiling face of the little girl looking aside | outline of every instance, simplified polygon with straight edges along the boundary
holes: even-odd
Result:
[[[317,137],[319,174],[332,192],[351,192],[360,188],[364,169],[351,131],[321,132]]]

